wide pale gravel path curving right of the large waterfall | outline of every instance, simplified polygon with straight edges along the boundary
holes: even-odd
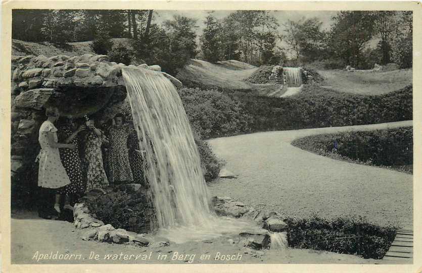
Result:
[[[334,160],[292,146],[299,137],[412,126],[412,121],[278,131],[209,140],[237,179],[211,184],[211,194],[299,217],[365,216],[412,227],[413,176]]]

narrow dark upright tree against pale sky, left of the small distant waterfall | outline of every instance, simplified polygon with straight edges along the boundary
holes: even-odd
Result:
[[[213,11],[208,13],[204,23],[204,32],[200,37],[201,49],[205,60],[214,63],[221,60],[221,25]]]

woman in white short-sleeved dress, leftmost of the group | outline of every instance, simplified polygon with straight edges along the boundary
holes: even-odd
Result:
[[[59,119],[58,108],[49,108],[45,115],[48,117],[39,128],[38,141],[41,146],[41,151],[38,154],[39,168],[38,168],[38,186],[42,189],[58,189],[60,187],[70,184],[69,177],[60,160],[59,148],[75,149],[75,144],[66,144],[57,142],[57,128],[54,122]],[[61,194],[56,194],[56,201],[54,209],[60,213]],[[42,197],[41,197],[42,198]],[[40,216],[51,219],[49,203],[45,203],[40,208]]]

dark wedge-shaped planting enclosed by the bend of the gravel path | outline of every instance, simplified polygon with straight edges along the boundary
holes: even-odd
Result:
[[[412,127],[322,134],[296,139],[292,144],[335,159],[410,173],[413,164]]]

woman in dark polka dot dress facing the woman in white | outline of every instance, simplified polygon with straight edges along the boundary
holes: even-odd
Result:
[[[71,202],[74,202],[75,198],[79,197],[84,192],[82,169],[78,149],[78,134],[85,129],[85,125],[78,127],[78,124],[75,122],[75,120],[67,119],[58,131],[60,142],[72,143],[76,146],[76,149],[73,150],[68,148],[59,149],[63,167],[65,168],[66,173],[70,179],[70,184],[58,189],[58,193],[66,194],[64,204],[65,209],[73,210]]]

